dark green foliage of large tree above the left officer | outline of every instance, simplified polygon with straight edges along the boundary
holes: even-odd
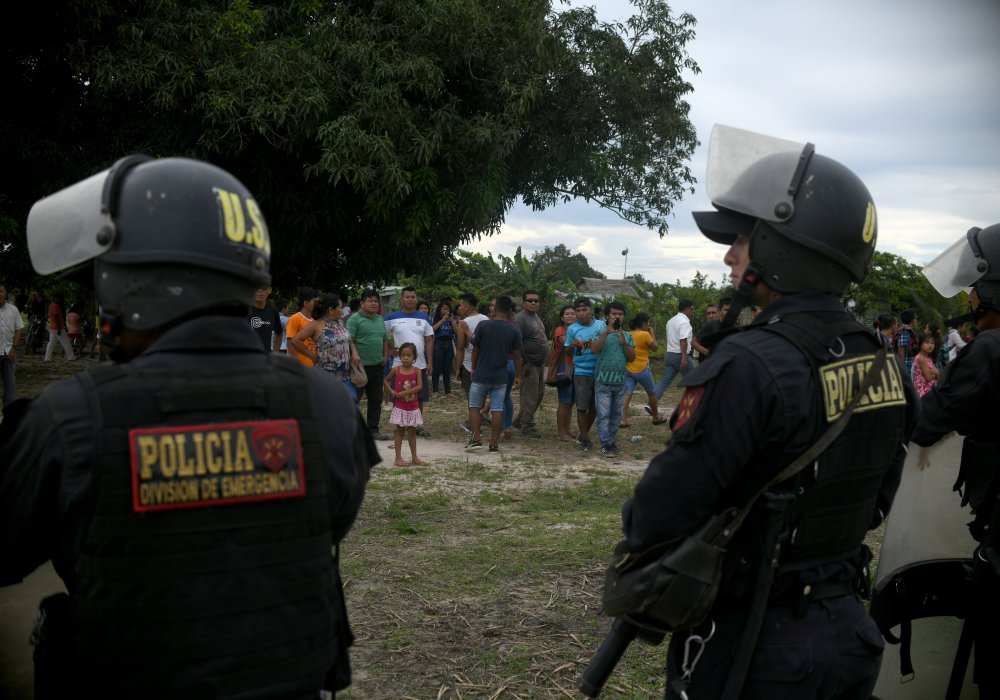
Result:
[[[694,179],[694,19],[550,0],[80,0],[2,30],[0,262],[31,204],[131,152],[202,158],[261,202],[276,283],[388,280],[583,197],[667,231]]]

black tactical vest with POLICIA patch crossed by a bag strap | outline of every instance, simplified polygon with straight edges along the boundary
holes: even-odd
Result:
[[[881,347],[872,332],[844,314],[789,314],[747,332],[755,330],[786,338],[813,367],[820,412],[813,441],[843,412],[863,379],[866,365]],[[795,574],[858,557],[877,510],[883,477],[903,441],[905,410],[902,374],[895,360],[888,357],[881,377],[830,447],[790,482],[773,487],[796,493],[785,519],[786,541],[779,573]],[[763,483],[755,485],[761,486]],[[744,593],[747,574],[763,556],[754,532],[754,516],[752,513],[747,523],[750,527],[744,526],[746,532],[737,535],[738,541],[734,540],[731,548],[734,556],[729,558],[733,568],[727,576],[728,595]],[[776,584],[775,593],[780,593],[780,578]]]

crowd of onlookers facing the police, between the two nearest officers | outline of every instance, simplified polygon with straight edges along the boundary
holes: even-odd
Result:
[[[414,438],[430,437],[421,418],[428,401],[464,398],[469,416],[460,427],[468,436],[466,449],[498,451],[515,431],[542,437],[537,412],[547,386],[558,395],[552,437],[613,456],[619,450],[619,429],[631,426],[635,388],[646,392],[644,408],[652,424],[665,423],[667,416],[659,410],[663,393],[677,374],[683,376],[697,364],[696,358],[707,356],[699,338],[718,330],[720,307],[729,303],[723,299],[707,305],[707,322],[696,335],[694,305],[680,302],[665,325],[667,355],[662,379],[654,384],[650,353],[659,345],[653,319],[640,312],[626,321],[626,309],[618,301],[595,304],[580,296],[560,309],[559,323],[550,332],[535,289],[521,293],[520,308],[508,295],[480,303],[466,293],[457,304],[439,300],[431,313],[416,289],[406,287],[400,292],[400,308],[384,316],[381,297],[371,288],[348,302],[303,287],[292,314],[287,304],[279,309],[268,301],[271,291],[257,290],[248,315],[264,349],[286,351],[307,367],[319,367],[342,382],[359,405],[364,399],[365,419],[376,440],[391,439],[382,432],[383,411],[391,407],[388,422],[395,428],[397,466],[422,464]],[[560,373],[563,379],[557,381]],[[401,412],[397,394],[405,396]],[[400,452],[404,440],[410,446],[409,462]]]

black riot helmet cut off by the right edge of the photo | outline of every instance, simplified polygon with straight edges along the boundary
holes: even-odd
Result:
[[[972,287],[980,306],[1000,311],[1000,224],[969,229],[924,266],[924,276],[941,296]]]

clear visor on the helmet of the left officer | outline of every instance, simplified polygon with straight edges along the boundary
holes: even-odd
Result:
[[[114,243],[111,217],[101,206],[108,170],[35,202],[26,227],[31,265],[40,275],[101,255]],[[102,229],[107,229],[102,233]],[[99,235],[100,234],[100,235]]]

